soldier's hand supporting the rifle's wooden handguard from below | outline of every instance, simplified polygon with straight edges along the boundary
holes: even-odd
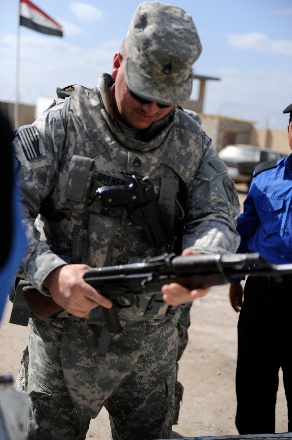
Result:
[[[198,255],[198,252],[193,249],[184,249],[181,255]],[[205,289],[189,290],[176,282],[162,286],[163,300],[169,305],[186,304],[194,301],[196,298],[203,297],[210,290],[209,287]]]

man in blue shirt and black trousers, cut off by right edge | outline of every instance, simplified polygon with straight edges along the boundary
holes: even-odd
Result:
[[[292,104],[288,140],[292,150]],[[292,154],[256,167],[244,211],[238,217],[238,253],[258,252],[271,263],[292,262]],[[292,276],[249,277],[244,302],[240,283],[229,298],[238,320],[235,424],[243,434],[275,432],[278,372],[283,370],[292,431]]]

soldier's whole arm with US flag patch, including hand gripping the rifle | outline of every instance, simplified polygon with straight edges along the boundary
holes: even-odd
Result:
[[[19,275],[43,294],[51,295],[72,315],[85,316],[97,304],[111,307],[111,301],[84,281],[83,275],[89,266],[67,265],[46,242],[40,240],[40,233],[34,225],[41,202],[54,187],[62,160],[65,130],[61,108],[58,105],[32,125],[21,127],[14,139],[18,185],[22,189],[23,223],[28,239],[22,260],[23,272]],[[32,143],[27,141],[28,136],[31,136]]]

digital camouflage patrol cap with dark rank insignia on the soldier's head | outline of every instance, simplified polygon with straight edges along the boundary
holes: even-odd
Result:
[[[191,15],[159,1],[141,3],[125,39],[125,78],[141,98],[180,104],[191,95],[192,64],[202,46]]]

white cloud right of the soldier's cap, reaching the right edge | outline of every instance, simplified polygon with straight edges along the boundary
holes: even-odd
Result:
[[[228,34],[228,43],[237,49],[255,49],[274,54],[292,56],[292,41],[270,40],[267,35],[254,32],[245,34]]]

